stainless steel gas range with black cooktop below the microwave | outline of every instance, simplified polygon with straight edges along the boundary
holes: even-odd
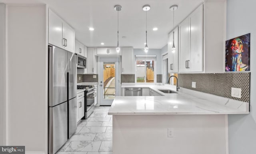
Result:
[[[95,87],[93,85],[77,85],[77,89],[85,89],[84,91],[84,117],[82,119],[88,118],[94,110],[94,99]]]

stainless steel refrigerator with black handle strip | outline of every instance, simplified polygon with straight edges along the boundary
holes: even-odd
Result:
[[[48,46],[48,153],[56,153],[77,128],[77,55]]]

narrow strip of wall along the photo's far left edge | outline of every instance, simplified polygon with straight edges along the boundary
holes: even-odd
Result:
[[[5,145],[5,4],[0,3],[0,145]]]

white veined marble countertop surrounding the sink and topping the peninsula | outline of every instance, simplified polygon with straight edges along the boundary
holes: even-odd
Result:
[[[122,88],[151,88],[163,96],[116,96],[108,115],[216,115],[248,114],[249,103],[180,88],[178,93],[166,85],[122,85]],[[189,95],[189,94],[191,95]]]

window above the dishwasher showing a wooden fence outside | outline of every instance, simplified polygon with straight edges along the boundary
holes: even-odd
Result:
[[[136,57],[136,83],[155,83],[156,57]]]

